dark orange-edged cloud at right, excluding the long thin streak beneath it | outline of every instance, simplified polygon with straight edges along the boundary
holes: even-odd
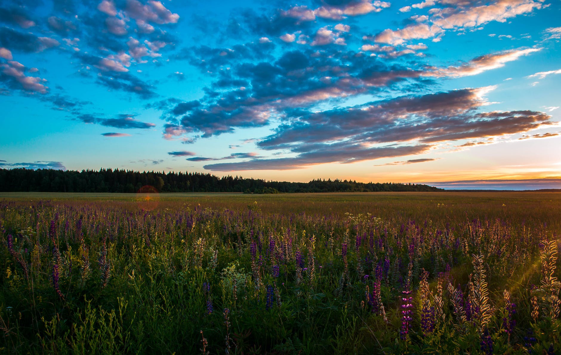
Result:
[[[485,103],[481,89],[463,89],[318,113],[301,111],[293,123],[280,125],[258,146],[269,150],[295,148],[301,143],[340,139],[436,143],[521,133],[550,123],[549,115],[535,111],[477,113]]]

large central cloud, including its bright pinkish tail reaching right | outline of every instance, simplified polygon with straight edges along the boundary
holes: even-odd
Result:
[[[423,44],[411,46],[415,49],[424,48]],[[243,48],[247,50],[245,46]],[[272,120],[286,123],[298,117],[298,109],[304,110],[305,115],[309,116],[306,109],[318,102],[335,102],[344,97],[387,90],[399,85],[422,87],[432,78],[475,75],[502,67],[504,63],[539,50],[517,49],[489,54],[458,66],[429,67],[423,66],[422,62],[411,61],[408,67],[404,67],[398,63],[389,66],[381,59],[367,57],[364,53],[327,47],[320,50],[292,50],[284,52],[277,60],[263,62],[254,62],[254,57],[250,57],[249,62],[238,62],[242,58],[233,56],[237,50],[219,51],[218,48],[208,47],[200,49],[204,53],[213,53],[206,57],[213,64],[206,64],[203,70],[215,68],[218,63],[222,63],[220,58],[228,59],[232,55],[234,59],[229,70],[217,71],[216,80],[210,87],[205,88],[204,97],[196,101],[177,103],[165,111],[163,117],[168,122],[164,126],[166,139],[189,134],[202,134],[202,137],[206,138],[234,132],[236,128],[262,127]],[[364,45],[362,49],[379,51],[383,54],[380,58],[395,58],[415,53],[415,50],[410,48],[397,50],[394,46],[378,44]],[[252,50],[247,53],[250,56],[254,55]],[[490,88],[458,92],[482,96],[485,90]],[[473,102],[476,105],[470,108],[487,104],[486,101]],[[369,110],[360,108],[357,112],[366,114]],[[431,108],[427,107],[426,110],[430,112]],[[304,123],[299,124],[305,127]],[[323,132],[325,129],[326,127],[319,127],[317,132]]]

